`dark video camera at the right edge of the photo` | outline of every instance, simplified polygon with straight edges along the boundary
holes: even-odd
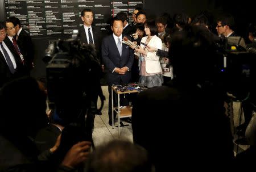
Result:
[[[237,99],[243,100],[255,86],[255,49],[247,49],[245,40],[240,36],[222,37],[217,45],[218,51],[222,54],[219,68],[224,74],[227,90]]]

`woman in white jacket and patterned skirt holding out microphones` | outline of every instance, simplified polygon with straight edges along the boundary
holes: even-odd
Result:
[[[146,48],[146,45],[148,45],[150,47],[162,49],[162,40],[156,36],[158,34],[158,29],[156,28],[155,21],[152,20],[146,22],[144,24],[144,31],[147,36],[142,37],[140,47],[135,49],[135,54],[140,57],[139,66],[141,66],[141,77],[139,82],[142,86],[148,88],[162,86],[163,75],[159,56],[156,56],[156,52],[148,52]]]

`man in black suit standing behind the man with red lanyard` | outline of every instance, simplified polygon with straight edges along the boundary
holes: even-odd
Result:
[[[31,37],[23,30],[18,18],[11,16],[8,20],[12,22],[15,27],[17,44],[24,58],[24,72],[30,75],[31,69],[34,68],[34,47]]]

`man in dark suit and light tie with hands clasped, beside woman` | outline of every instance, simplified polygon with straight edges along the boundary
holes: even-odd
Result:
[[[131,65],[133,65],[134,52],[128,45],[122,44],[123,22],[113,18],[111,28],[112,35],[102,41],[102,61],[106,66],[109,93],[112,85],[123,85],[131,79]],[[112,125],[112,98],[109,94],[109,124]]]

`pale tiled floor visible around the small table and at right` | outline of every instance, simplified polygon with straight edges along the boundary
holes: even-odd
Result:
[[[108,98],[109,98],[109,93],[108,93],[108,86],[102,86],[102,91],[106,97],[106,100],[104,102],[104,107],[102,109],[102,115],[96,115],[95,120],[94,120],[94,131],[93,131],[93,141],[94,145],[98,146],[101,144],[104,144],[105,142],[108,142],[113,139],[121,138],[121,139],[126,139],[130,140],[133,142],[133,131],[131,129],[131,124],[127,127],[120,127],[120,137],[118,137],[118,127],[112,128],[108,124],[109,117],[108,117]],[[100,102],[98,102],[98,107],[100,107]],[[233,105],[234,108],[234,126],[236,127],[239,124],[239,108],[240,108],[240,103],[239,102],[234,102]],[[243,117],[243,116],[242,116]],[[243,123],[244,119],[242,118],[241,123]],[[123,122],[124,124],[128,124],[126,122]],[[117,125],[117,123],[115,123]],[[234,135],[234,140],[237,139],[237,136]],[[249,146],[248,145],[239,145],[238,152],[241,152],[242,150],[247,149]],[[234,154],[236,154],[237,151],[237,145],[234,145]]]

